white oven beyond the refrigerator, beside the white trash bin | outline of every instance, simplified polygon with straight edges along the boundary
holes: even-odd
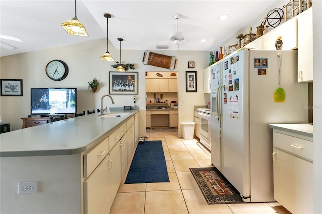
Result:
[[[200,123],[200,142],[209,150],[211,140],[211,128],[210,128],[210,119],[211,119],[211,113],[209,111],[200,110],[199,111],[199,123]]]

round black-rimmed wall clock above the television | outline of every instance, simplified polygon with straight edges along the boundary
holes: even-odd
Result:
[[[68,66],[64,61],[52,60],[46,66],[46,74],[54,81],[63,80],[68,75]]]

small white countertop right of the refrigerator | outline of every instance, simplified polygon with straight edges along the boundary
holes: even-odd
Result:
[[[270,124],[270,127],[313,137],[313,124]]]

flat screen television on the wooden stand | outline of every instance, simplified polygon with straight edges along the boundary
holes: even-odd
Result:
[[[31,88],[31,115],[59,115],[77,112],[76,88]]]

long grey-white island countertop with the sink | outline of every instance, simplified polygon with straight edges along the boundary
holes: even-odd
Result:
[[[121,113],[122,111],[117,111]],[[78,116],[0,134],[0,157],[70,155],[88,150],[114,131],[124,117]],[[111,110],[111,113],[113,111]]]

